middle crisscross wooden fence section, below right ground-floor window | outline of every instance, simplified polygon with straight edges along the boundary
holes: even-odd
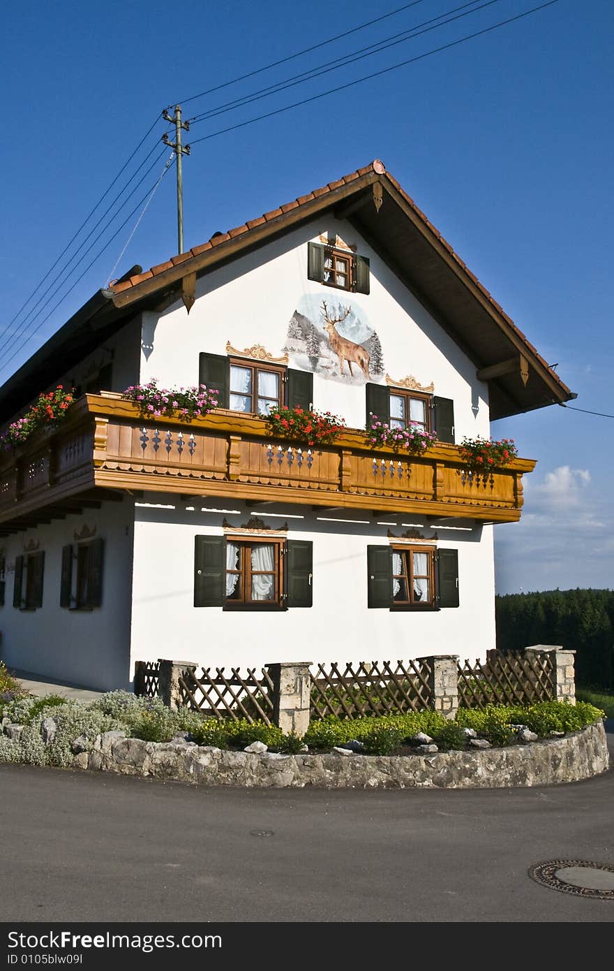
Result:
[[[431,707],[431,668],[424,659],[371,664],[316,664],[311,673],[311,717],[360,718]]]

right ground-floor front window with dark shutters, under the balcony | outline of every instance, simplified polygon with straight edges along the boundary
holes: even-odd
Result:
[[[456,550],[427,546],[367,548],[368,607],[436,610],[459,606]]]

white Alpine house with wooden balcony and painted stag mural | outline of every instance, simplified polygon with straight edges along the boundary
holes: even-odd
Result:
[[[202,419],[121,397],[202,383]],[[573,395],[380,161],[100,290],[0,388],[78,400],[0,464],[7,664],[129,686],[137,660],[484,656],[493,524],[520,519],[516,457],[458,445]],[[275,405],[346,430],[301,448]],[[436,434],[372,445],[374,414]]]

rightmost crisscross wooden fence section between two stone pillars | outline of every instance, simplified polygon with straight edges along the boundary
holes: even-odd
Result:
[[[459,663],[459,704],[485,708],[550,701],[555,697],[553,679],[554,664],[548,653],[528,656],[491,651],[485,661]]]

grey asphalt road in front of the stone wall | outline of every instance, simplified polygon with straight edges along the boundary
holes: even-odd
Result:
[[[613,806],[612,769],[558,787],[326,791],[2,765],[0,920],[613,921],[614,901],[527,875],[614,865]]]

